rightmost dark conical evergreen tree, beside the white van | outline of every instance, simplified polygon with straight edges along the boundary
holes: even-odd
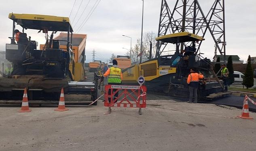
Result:
[[[252,87],[254,85],[254,79],[253,79],[253,70],[251,65],[251,56],[248,56],[247,60],[247,67],[245,70],[245,75],[243,79],[243,85],[246,86],[246,89]]]

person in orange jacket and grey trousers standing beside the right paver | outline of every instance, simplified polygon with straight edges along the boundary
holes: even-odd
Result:
[[[194,103],[197,103],[197,89],[199,85],[199,79],[203,79],[203,74],[195,72],[195,69],[190,68],[190,74],[188,75],[187,83],[189,89],[188,103],[192,103],[193,93],[195,96]]]

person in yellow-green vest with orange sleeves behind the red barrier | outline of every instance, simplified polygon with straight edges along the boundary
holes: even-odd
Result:
[[[122,70],[117,67],[117,61],[113,60],[112,61],[113,66],[108,68],[108,70],[103,74],[103,77],[108,76],[108,84],[109,85],[121,85],[122,80],[123,80],[123,74]],[[116,91],[116,89],[113,89],[113,93]],[[108,94],[111,94],[111,90],[108,90]],[[118,92],[114,95],[114,100],[118,97]],[[108,101],[110,102],[110,98],[108,98]],[[115,100],[116,102],[117,100]]]

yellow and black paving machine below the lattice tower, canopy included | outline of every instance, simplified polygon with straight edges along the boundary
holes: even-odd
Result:
[[[173,33],[156,38],[157,41],[176,44],[176,51],[172,55],[159,56],[130,66],[122,70],[124,84],[137,84],[139,76],[144,76],[145,85],[152,93],[164,93],[173,97],[188,97],[186,83],[190,68],[195,68],[205,76],[199,83],[198,94],[212,99],[223,93],[223,83],[216,77],[210,60],[201,54],[195,54],[191,46],[179,49],[180,43],[204,40],[202,37],[188,32]]]

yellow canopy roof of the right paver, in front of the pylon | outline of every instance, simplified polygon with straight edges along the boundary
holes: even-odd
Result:
[[[166,43],[182,43],[188,41],[202,41],[204,39],[203,37],[193,33],[181,32],[163,35],[161,37],[157,37],[156,40],[160,40]]]

